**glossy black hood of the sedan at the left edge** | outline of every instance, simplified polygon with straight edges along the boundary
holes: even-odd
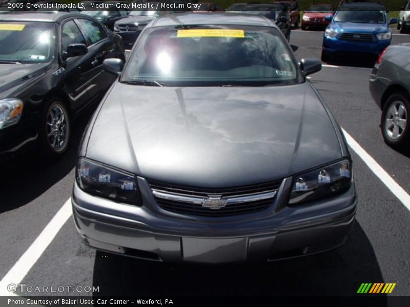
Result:
[[[0,64],[0,98],[15,86],[22,86],[42,74],[48,64]]]

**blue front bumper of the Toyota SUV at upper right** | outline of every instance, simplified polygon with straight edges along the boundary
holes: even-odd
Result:
[[[391,43],[391,39],[375,41],[349,41],[323,36],[323,51],[328,54],[357,52],[379,55]]]

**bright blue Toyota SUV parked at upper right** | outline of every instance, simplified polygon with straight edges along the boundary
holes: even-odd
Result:
[[[387,19],[384,6],[373,3],[347,3],[342,5],[324,31],[322,61],[336,56],[358,53],[377,57],[392,41],[389,25],[397,18]]]

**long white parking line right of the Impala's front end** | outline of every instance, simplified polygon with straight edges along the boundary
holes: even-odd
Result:
[[[381,182],[392,191],[399,201],[410,211],[410,195],[372,158],[344,129],[347,144],[357,153]]]

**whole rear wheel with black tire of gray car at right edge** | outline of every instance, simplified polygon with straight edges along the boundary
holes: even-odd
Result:
[[[400,116],[400,104],[404,108],[404,116]],[[395,127],[395,122],[397,123],[400,120],[394,119],[392,116],[392,107],[395,105],[394,108],[399,110],[399,118],[405,118],[405,124],[404,127],[401,125],[396,124],[397,131],[398,131],[398,136],[394,136],[393,134],[393,127]],[[395,92],[392,95],[390,95],[386,103],[384,104],[383,107],[383,112],[381,115],[381,130],[382,130],[382,135],[383,139],[386,142],[387,145],[395,148],[395,149],[405,149],[410,147],[410,123],[408,121],[410,117],[410,98],[407,95],[407,93],[403,91]],[[389,125],[387,123],[387,119],[392,120],[392,124]]]

